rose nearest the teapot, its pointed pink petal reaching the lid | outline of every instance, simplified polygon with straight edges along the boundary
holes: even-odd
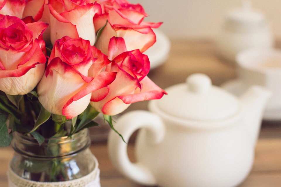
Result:
[[[92,92],[90,104],[97,111],[116,115],[131,103],[160,99],[167,94],[146,76],[150,69],[148,56],[138,49],[127,52],[123,38],[110,40],[108,54],[113,60],[106,66],[106,71],[117,72],[117,75],[107,87]]]

